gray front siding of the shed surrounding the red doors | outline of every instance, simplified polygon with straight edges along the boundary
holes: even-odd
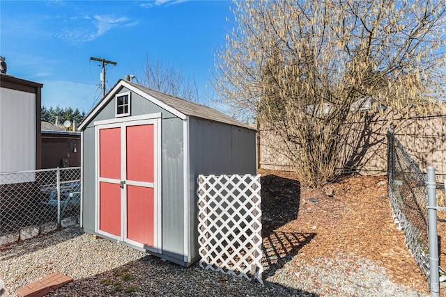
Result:
[[[118,93],[127,92],[122,88]],[[183,120],[160,106],[132,93],[131,115],[162,113],[162,250],[169,257],[183,261],[184,257],[184,170]],[[84,129],[84,213],[86,232],[95,230],[95,129],[94,122],[115,118],[115,101],[110,100]],[[125,118],[122,118],[125,121]]]

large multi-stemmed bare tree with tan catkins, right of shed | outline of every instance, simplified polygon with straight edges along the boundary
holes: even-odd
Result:
[[[275,149],[302,182],[343,172],[358,148],[353,123],[429,111],[445,97],[444,1],[233,4],[234,29],[216,54],[220,99],[282,139]]]

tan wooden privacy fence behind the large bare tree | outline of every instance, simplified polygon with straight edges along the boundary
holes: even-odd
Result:
[[[347,136],[348,147],[356,147],[351,159],[351,170],[361,175],[385,175],[387,172],[386,136],[388,127],[394,123],[395,135],[410,157],[420,168],[434,166],[437,182],[446,177],[446,104],[438,106],[432,115],[410,115],[408,119],[399,114],[385,115],[370,121],[354,123]],[[440,111],[443,111],[440,113]],[[286,143],[273,129],[260,127],[258,140],[259,168],[272,170],[295,170]],[[357,145],[353,145],[357,142]],[[353,145],[353,146],[352,146]],[[298,152],[296,152],[297,154]],[[344,168],[346,169],[346,168]]]

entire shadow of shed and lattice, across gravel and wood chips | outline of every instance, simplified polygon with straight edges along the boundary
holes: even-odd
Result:
[[[264,284],[205,270],[198,262],[185,268],[148,255],[91,278],[75,280],[47,296],[318,296],[266,280],[291,261],[316,233],[277,230],[297,218],[299,182],[267,175],[261,177],[261,184]]]

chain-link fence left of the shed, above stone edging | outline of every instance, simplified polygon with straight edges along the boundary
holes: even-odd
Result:
[[[0,236],[79,217],[81,170],[0,173]]]

